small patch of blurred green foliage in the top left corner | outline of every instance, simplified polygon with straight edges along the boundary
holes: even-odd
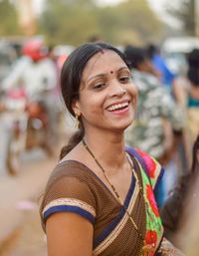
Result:
[[[9,0],[0,0],[0,36],[19,34],[17,11]]]

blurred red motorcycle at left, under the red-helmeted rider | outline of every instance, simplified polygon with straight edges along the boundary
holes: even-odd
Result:
[[[5,100],[11,132],[7,144],[6,167],[11,175],[21,168],[22,154],[40,147],[47,155],[53,150],[48,143],[48,115],[41,103],[30,102],[22,88],[12,89]]]

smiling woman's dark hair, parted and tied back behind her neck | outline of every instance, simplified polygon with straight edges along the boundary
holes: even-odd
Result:
[[[80,85],[82,82],[82,75],[88,61],[96,54],[103,50],[115,52],[128,66],[124,55],[111,45],[96,42],[86,43],[79,46],[66,60],[61,72],[61,93],[68,111],[75,117],[72,108],[72,103],[79,100]],[[128,66],[129,67],[129,66]],[[80,120],[81,122],[81,120]],[[70,139],[66,146],[64,146],[60,153],[62,159],[69,151],[71,151],[84,137],[85,129],[83,124]]]

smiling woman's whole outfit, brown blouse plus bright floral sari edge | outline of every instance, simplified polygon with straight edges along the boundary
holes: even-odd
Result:
[[[76,212],[94,225],[93,255],[145,256],[141,252],[142,246],[152,243],[153,250],[148,255],[155,255],[162,241],[163,227],[153,191],[163,168],[154,158],[136,149],[146,164],[143,167],[140,157],[127,151],[143,194],[132,173],[124,205],[143,234],[144,242],[106,185],[88,166],[77,160],[60,162],[49,178],[41,205],[44,230],[47,218],[54,212]]]

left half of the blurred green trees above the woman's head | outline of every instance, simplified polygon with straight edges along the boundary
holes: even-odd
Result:
[[[40,31],[50,43],[82,44],[100,32],[93,8],[93,0],[50,0],[39,21]]]

